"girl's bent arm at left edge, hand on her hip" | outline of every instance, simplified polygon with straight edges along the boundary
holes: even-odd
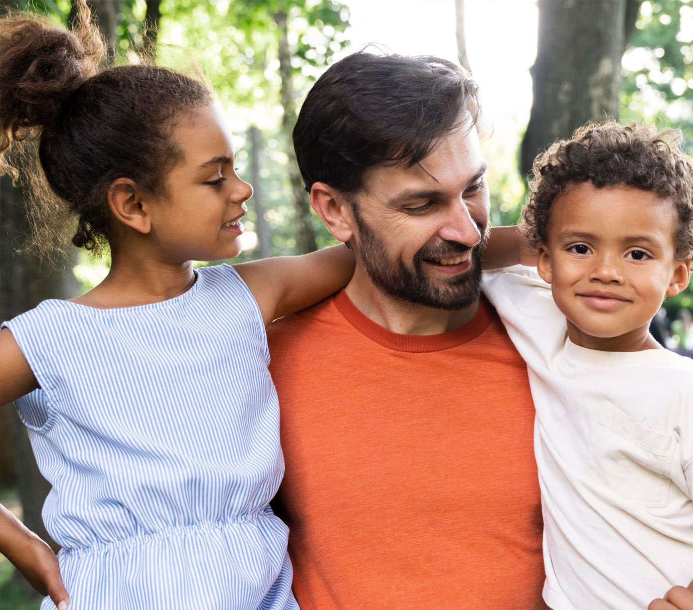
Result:
[[[38,388],[31,368],[15,337],[0,330],[0,405],[8,404]],[[67,591],[62,586],[58,559],[51,548],[0,505],[0,553],[43,595],[50,595],[58,610],[67,608]]]

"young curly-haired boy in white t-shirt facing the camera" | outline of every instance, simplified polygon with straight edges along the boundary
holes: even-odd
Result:
[[[652,601],[693,578],[693,360],[649,334],[693,258],[672,135],[610,122],[554,143],[523,210],[536,271],[484,278],[529,369],[554,610],[693,607],[682,587]]]

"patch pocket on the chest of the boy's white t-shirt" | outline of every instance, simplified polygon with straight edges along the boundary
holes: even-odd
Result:
[[[675,449],[673,435],[647,428],[607,405],[597,423],[590,473],[596,483],[622,498],[663,507]]]

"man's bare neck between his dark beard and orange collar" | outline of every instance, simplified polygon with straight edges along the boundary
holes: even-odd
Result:
[[[470,322],[479,300],[464,310],[439,310],[383,294],[359,265],[346,288],[347,296],[367,318],[398,334],[441,334]]]

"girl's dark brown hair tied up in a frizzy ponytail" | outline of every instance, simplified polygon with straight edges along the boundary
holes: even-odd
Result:
[[[205,84],[168,69],[100,70],[103,42],[85,0],[78,7],[73,31],[27,13],[0,21],[0,170],[31,187],[32,245],[42,255],[60,249],[55,217],[76,218],[72,243],[98,253],[111,183],[125,177],[164,192],[182,156],[170,137],[175,120],[211,101]]]

